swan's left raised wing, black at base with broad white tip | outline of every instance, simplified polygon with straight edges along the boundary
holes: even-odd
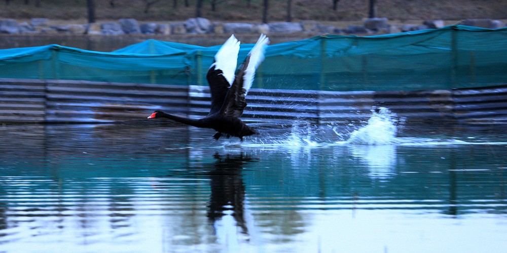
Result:
[[[233,34],[215,54],[215,60],[206,74],[211,93],[211,109],[208,115],[218,112],[224,104],[229,87],[234,81],[238,52],[239,41]]]

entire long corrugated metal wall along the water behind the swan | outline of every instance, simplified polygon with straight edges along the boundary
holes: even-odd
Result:
[[[0,123],[128,122],[146,120],[156,109],[205,116],[209,89],[76,80],[0,78]],[[387,107],[407,121],[507,123],[507,86],[432,91],[325,92],[252,89],[247,121],[364,120]]]

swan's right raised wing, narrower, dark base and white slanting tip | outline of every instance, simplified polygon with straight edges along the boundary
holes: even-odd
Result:
[[[246,56],[225,98],[222,111],[226,115],[234,117],[241,117],[243,115],[243,110],[246,107],[245,96],[252,86],[257,67],[264,60],[264,51],[268,44],[269,38],[261,34],[257,43]]]

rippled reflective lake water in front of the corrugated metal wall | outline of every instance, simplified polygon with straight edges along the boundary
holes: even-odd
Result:
[[[0,251],[507,252],[507,128],[394,116],[0,126]]]

